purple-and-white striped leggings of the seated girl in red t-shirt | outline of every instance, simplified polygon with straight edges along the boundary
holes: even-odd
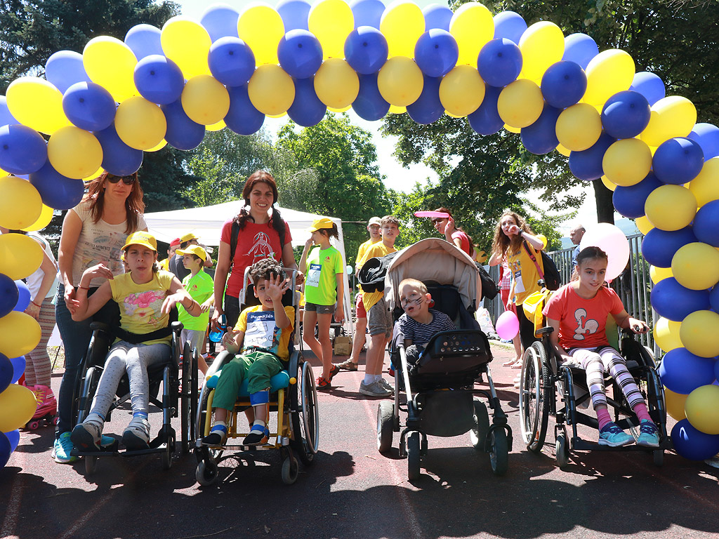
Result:
[[[582,369],[587,372],[587,385],[589,386],[592,406],[607,406],[607,395],[604,390],[604,373],[608,371],[626,397],[629,407],[633,410],[640,402],[644,403],[634,377],[629,374],[624,358],[611,346],[598,348],[574,348],[568,354],[580,362]]]

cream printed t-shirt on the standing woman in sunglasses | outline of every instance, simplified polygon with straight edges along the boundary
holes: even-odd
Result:
[[[75,254],[73,255],[73,283],[75,285],[80,282],[83,272],[88,267],[96,264],[105,264],[109,267],[112,275],[122,275],[125,272],[124,265],[120,259],[122,246],[127,240],[127,222],[122,221],[120,224],[111,225],[100,219],[97,223],[93,222],[92,213],[89,210],[87,201],[79,203],[74,211],[83,222],[83,228],[80,231]],[[139,214],[137,216],[137,229],[130,231],[146,229],[145,216]],[[90,286],[100,286],[106,279],[96,277],[90,282]]]

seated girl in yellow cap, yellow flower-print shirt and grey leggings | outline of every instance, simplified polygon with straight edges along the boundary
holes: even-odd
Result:
[[[92,316],[109,300],[114,300],[120,308],[120,331],[117,332],[120,337],[116,338],[107,355],[92,410],[83,423],[75,425],[70,435],[75,447],[82,451],[100,450],[105,418],[120,379],[126,372],[129,377],[132,420],[122,434],[122,443],[131,451],[148,448],[150,388],[147,367],[168,357],[171,339],[169,335],[152,338],[152,333],[168,326],[170,310],[178,303],[193,316],[201,313],[200,305],[190,297],[178,278],[160,270],[157,265],[157,241],[152,234],[131,234],[122,247],[122,259],[128,270],[124,275],[113,277],[109,268],[97,264],[83,273],[77,287],[79,305],[72,313],[75,321]],[[88,284],[95,277],[104,277],[107,281],[88,298]],[[123,332],[147,335],[149,338],[140,344],[131,344],[122,340]]]

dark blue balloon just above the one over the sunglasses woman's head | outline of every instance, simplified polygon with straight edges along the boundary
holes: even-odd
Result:
[[[80,129],[101,131],[115,119],[116,103],[99,84],[75,83],[65,91],[63,111]]]

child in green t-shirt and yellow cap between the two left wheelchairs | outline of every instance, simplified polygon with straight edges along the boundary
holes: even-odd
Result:
[[[187,312],[182,305],[178,307],[178,321],[183,323],[183,330],[180,343],[185,347],[189,342],[190,346],[198,350],[198,367],[202,374],[207,372],[207,363],[202,356],[203,343],[207,333],[207,324],[210,320],[209,310],[214,303],[212,277],[203,269],[207,259],[207,252],[199,245],[188,245],[186,249],[178,249],[177,254],[183,257],[182,262],[190,274],[182,280],[182,285],[190,297],[200,304],[202,314],[193,316]]]

